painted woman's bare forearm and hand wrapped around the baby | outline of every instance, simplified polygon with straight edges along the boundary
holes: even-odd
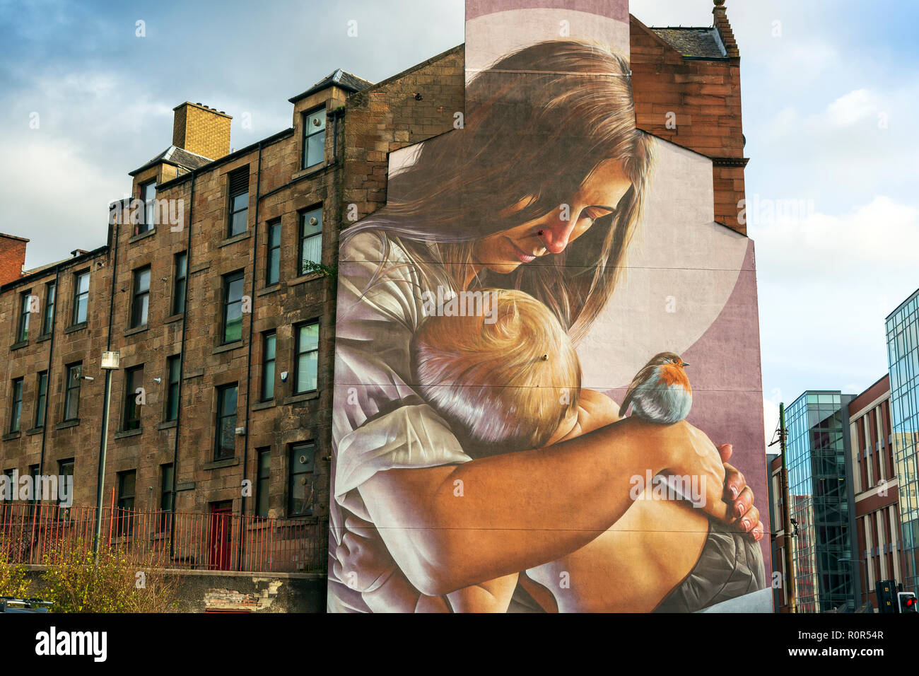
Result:
[[[405,576],[443,596],[584,546],[629,509],[632,477],[648,472],[698,475],[704,509],[731,519],[711,441],[685,422],[637,418],[550,449],[378,472],[359,490]]]

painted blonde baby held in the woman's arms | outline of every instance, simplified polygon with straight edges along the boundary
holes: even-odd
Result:
[[[581,366],[549,308],[486,290],[481,315],[431,316],[411,346],[414,383],[473,457],[550,446],[615,423],[618,406],[581,388]],[[759,544],[637,477],[634,503],[581,549],[522,574],[420,594],[396,572],[372,592],[380,610],[506,612],[517,586],[546,610],[692,612],[765,587]],[[651,482],[652,484],[654,482]],[[664,491],[666,493],[666,491]]]

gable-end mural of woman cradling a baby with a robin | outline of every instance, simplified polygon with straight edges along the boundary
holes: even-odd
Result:
[[[752,243],[628,41],[470,0],[464,128],[343,231],[330,611],[771,612]]]

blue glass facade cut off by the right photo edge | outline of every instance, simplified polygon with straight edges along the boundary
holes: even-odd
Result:
[[[887,359],[891,370],[891,445],[900,490],[902,582],[919,588],[919,478],[916,475],[919,430],[919,292],[887,317]]]

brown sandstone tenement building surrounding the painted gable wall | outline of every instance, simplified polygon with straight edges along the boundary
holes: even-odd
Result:
[[[642,129],[713,160],[716,218],[744,233],[721,5],[708,28],[632,17],[633,89]],[[100,359],[118,351],[107,496],[323,524],[338,233],[385,204],[389,153],[453,129],[463,65],[460,45],[375,85],[335,71],[289,99],[289,129],[233,153],[229,115],[183,103],[111,205],[106,246],[23,271],[28,240],[0,236],[0,471],[73,474],[74,503],[95,504]]]

